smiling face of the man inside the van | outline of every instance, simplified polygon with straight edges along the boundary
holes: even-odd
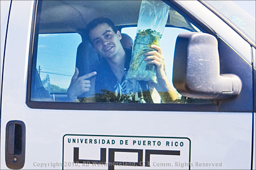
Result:
[[[104,58],[113,58],[122,47],[120,32],[115,33],[108,24],[99,24],[90,31],[89,36],[97,53]]]

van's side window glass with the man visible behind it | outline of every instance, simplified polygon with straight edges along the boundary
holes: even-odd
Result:
[[[127,78],[132,66],[134,52],[132,46],[136,39],[141,1],[102,3],[99,1],[38,2],[40,12],[36,16],[33,56],[31,56],[29,101],[81,104],[212,103],[181,96],[172,83],[176,38],[181,32],[203,32],[200,26],[182,12],[176,11],[176,8],[168,7],[168,20],[159,40],[164,56],[164,68],[159,70],[164,71],[168,80],[166,82],[171,87],[169,89],[173,90],[171,94],[170,91],[163,90],[167,85],[161,87],[157,77],[159,74],[156,74],[156,82]],[[113,5],[118,8],[113,9]],[[88,10],[85,11],[85,8]],[[118,15],[120,17],[117,17]],[[120,31],[120,36],[107,25],[104,34],[90,39],[92,36],[87,34],[87,24],[99,17],[112,20],[117,31]],[[94,27],[93,30],[97,29]],[[125,35],[133,42],[126,45]],[[119,38],[121,36],[122,38]],[[106,44],[110,45],[104,44],[105,39],[107,39]],[[100,44],[102,49],[97,48],[97,43],[102,43]],[[121,71],[113,69],[110,62],[114,61],[110,57],[112,58],[112,52],[119,47],[117,45],[119,43],[125,53],[124,73],[122,69]],[[155,56],[162,58],[159,54]],[[149,62],[151,61],[153,60],[149,59]],[[156,61],[158,62],[158,59]],[[154,64],[150,66],[152,65]],[[161,73],[162,78],[165,79],[163,72],[157,72],[157,65],[153,69],[156,73]]]

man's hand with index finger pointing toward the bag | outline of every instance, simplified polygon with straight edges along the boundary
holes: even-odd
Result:
[[[77,78],[78,74],[78,68],[75,68],[75,74],[71,79],[71,83],[67,91],[69,101],[75,101],[77,96],[89,91],[91,82],[88,78],[95,76],[97,73],[94,71]]]

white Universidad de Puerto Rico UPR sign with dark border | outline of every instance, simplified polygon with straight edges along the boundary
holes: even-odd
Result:
[[[65,134],[62,161],[63,169],[176,169],[190,151],[183,137]]]

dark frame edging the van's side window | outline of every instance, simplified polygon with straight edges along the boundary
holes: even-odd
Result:
[[[201,22],[195,15],[189,11],[181,11],[182,6],[176,1],[166,1],[169,6],[172,6],[176,11],[188,16],[195,26],[203,28],[204,32],[216,34]],[[32,79],[32,66],[35,64],[33,59],[33,53],[36,53],[37,48],[34,48],[38,42],[39,23],[41,9],[38,8],[38,1],[35,1],[33,9],[33,19],[31,27],[31,39],[29,47],[29,64],[28,64],[28,84],[27,84],[27,96],[26,105],[31,109],[58,109],[58,110],[97,110],[97,111],[199,111],[199,112],[216,112],[218,111],[218,104],[215,103],[70,103],[70,102],[46,102],[46,101],[31,101],[31,79]],[[181,8],[181,9],[179,9]],[[133,25],[134,26],[134,25]]]

